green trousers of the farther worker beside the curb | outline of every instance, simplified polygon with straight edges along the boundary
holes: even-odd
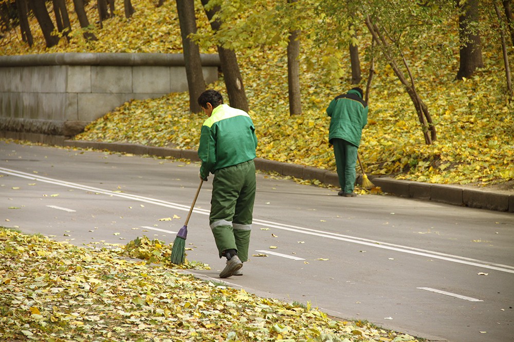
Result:
[[[336,157],[339,185],[344,193],[352,193],[355,186],[355,164],[357,163],[357,147],[346,140],[335,138],[334,156]]]

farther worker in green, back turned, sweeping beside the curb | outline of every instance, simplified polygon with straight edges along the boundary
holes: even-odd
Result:
[[[334,98],[326,109],[330,119],[328,142],[334,146],[339,196],[355,197],[355,164],[362,129],[368,123],[368,104],[356,87]]]

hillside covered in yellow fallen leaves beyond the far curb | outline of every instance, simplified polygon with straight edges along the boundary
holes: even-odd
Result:
[[[103,29],[95,31],[98,42],[86,43],[75,33],[70,43],[62,39],[59,46],[45,49],[33,19],[34,46],[28,48],[21,39],[14,40],[0,47],[0,53],[182,52],[175,2],[164,2],[159,8],[143,0],[132,3],[136,9],[133,17],[127,20],[118,15],[104,21]],[[68,4],[72,10],[71,2]],[[96,17],[94,2],[88,6],[90,17]],[[196,17],[198,31],[209,31],[201,6],[197,6]],[[76,19],[71,17],[71,20],[74,28],[78,28]],[[448,25],[457,25],[456,20]],[[361,33],[361,43],[365,46],[369,37]],[[504,95],[501,45],[493,30],[483,30],[481,34],[483,42],[490,42],[483,46],[485,67],[464,81],[454,80],[458,70],[457,34],[434,32],[430,38],[425,37],[434,42],[433,46],[439,42],[451,50],[452,57],[440,59],[437,68],[433,62],[429,63],[434,60],[431,51],[413,48],[406,53],[417,90],[437,125],[437,140],[430,146],[424,143],[407,92],[386,63],[375,61],[369,124],[363,131],[359,149],[366,173],[443,184],[493,185],[514,179],[514,112]],[[327,142],[325,109],[332,98],[353,87],[349,58],[341,61],[347,77],[326,82],[324,61],[330,57],[329,52],[314,46],[307,36],[301,37],[302,115],[289,116],[287,57],[283,46],[237,51],[238,62],[260,140],[258,156],[335,170]],[[204,47],[201,52],[215,50]],[[510,55],[512,52],[509,48]],[[510,65],[514,65],[512,62]],[[369,65],[368,58],[362,56],[363,88]],[[209,87],[226,94],[223,81]],[[186,93],[134,100],[99,118],[77,138],[196,149],[205,117],[190,114],[188,101]]]

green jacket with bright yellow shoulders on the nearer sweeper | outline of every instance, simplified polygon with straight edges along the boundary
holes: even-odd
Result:
[[[250,116],[243,110],[219,105],[201,127],[198,157],[200,176],[255,158],[257,137]]]

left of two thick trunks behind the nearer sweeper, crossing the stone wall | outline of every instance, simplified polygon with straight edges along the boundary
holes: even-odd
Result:
[[[197,99],[205,91],[205,80],[201,70],[200,49],[189,38],[190,34],[196,33],[194,2],[191,0],[176,0],[176,2],[188,78],[189,110],[193,113],[199,113],[201,107],[198,105]]]

